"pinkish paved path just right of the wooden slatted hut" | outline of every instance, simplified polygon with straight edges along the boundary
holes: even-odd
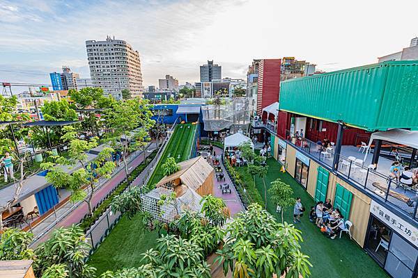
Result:
[[[222,156],[224,150],[220,149],[219,147],[213,148],[217,154],[217,156]],[[226,206],[228,206],[229,211],[231,212],[231,215],[235,215],[236,213],[239,213],[241,211],[245,211],[244,206],[242,206],[241,199],[238,196],[237,190],[235,189],[235,186],[233,186],[233,183],[231,181],[231,178],[229,177],[228,172],[226,172],[226,169],[222,163],[220,163],[220,166],[222,167],[222,172],[224,172],[225,181],[217,181],[216,177],[214,179],[213,184],[213,195],[215,197],[219,197],[224,199],[224,202]],[[222,190],[219,188],[221,184],[229,184],[231,188],[231,194],[222,194]]]

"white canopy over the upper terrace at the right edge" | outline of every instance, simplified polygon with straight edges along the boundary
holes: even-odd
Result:
[[[369,140],[369,149],[373,140],[385,140],[418,149],[418,131],[390,129],[388,131],[378,131],[372,133]],[[366,156],[367,152],[364,156],[364,160],[366,160]]]

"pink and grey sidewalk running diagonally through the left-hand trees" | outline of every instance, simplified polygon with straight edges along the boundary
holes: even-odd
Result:
[[[156,145],[153,142],[146,149],[146,156],[149,156],[149,154],[154,149],[156,149]],[[138,152],[138,154],[132,156],[132,160],[128,163],[128,172],[132,172],[132,170],[134,170],[135,167],[142,163],[142,161],[144,161],[143,152]],[[118,186],[118,183],[123,181],[123,179],[125,179],[125,170],[123,163],[121,163],[121,167],[118,167],[118,172],[116,172],[116,174],[113,177],[111,177],[111,179],[105,181],[104,184],[102,184],[102,186],[100,186],[100,188],[97,191],[95,191],[92,200],[93,206],[98,204],[112,189]],[[72,211],[68,213],[69,210]],[[32,228],[34,238],[37,238],[39,236],[34,245],[38,245],[42,241],[45,241],[49,237],[49,234],[57,227],[68,227],[71,224],[78,223],[80,220],[82,220],[84,215],[86,215],[87,210],[88,207],[86,202],[78,202],[76,204],[67,202],[65,205],[61,206],[56,210],[56,215],[58,216],[58,218],[60,218],[60,216],[62,217],[66,213],[68,213],[68,215],[65,215],[63,219],[59,220],[59,222],[57,222],[54,225],[54,227],[50,227],[50,225],[56,221],[56,217],[54,213],[52,213],[47,218],[45,218],[45,220],[42,220],[40,224]]]

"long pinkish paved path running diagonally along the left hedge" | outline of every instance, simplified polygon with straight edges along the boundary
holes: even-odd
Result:
[[[146,156],[148,156],[154,149],[156,149],[155,143],[151,144],[148,147],[148,149],[146,149]],[[134,170],[135,167],[137,167],[140,163],[142,163],[142,161],[144,161],[144,154],[141,152],[137,157],[133,158],[132,161],[130,161],[130,163],[128,163],[128,172],[132,172],[132,170]],[[121,165],[123,165],[123,163],[121,163]],[[93,200],[92,200],[93,206],[98,204],[100,202],[100,200],[102,200],[112,189],[114,189],[116,186],[118,186],[118,183],[123,181],[123,179],[125,179],[124,167],[122,167],[122,169],[119,172],[117,172],[113,177],[111,177],[111,179],[106,181],[95,192],[95,194],[93,195]],[[68,204],[70,204],[70,202],[68,202]],[[72,204],[70,204],[70,206],[72,206]],[[65,208],[65,209],[68,210],[69,208]],[[74,210],[72,212],[70,212],[68,215],[66,215],[65,218],[63,218],[58,223],[56,223],[54,225],[54,228],[68,227],[71,224],[78,223],[80,220],[82,220],[84,215],[86,215],[87,211],[88,211],[88,206],[87,206],[86,202],[82,202],[82,204],[79,204],[79,206],[77,206],[77,208],[74,208]],[[51,224],[52,222],[54,222],[55,219],[54,219],[53,214],[49,215],[49,218],[52,218],[52,220],[47,221],[45,224]],[[34,227],[33,228],[33,234],[35,234],[35,236],[37,236],[37,235],[40,235],[43,232],[45,232],[45,224],[43,225],[43,227],[42,227],[41,224],[39,224],[37,227]],[[49,234],[51,234],[53,229],[48,231],[45,235],[42,235],[40,237],[40,239],[37,240],[36,244],[41,243],[42,241],[45,241],[49,237]]]

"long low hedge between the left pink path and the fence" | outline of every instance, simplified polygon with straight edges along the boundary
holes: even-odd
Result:
[[[144,154],[140,154],[144,155]],[[100,201],[99,204],[97,204],[94,208],[93,215],[85,215],[82,221],[80,222],[80,227],[84,229],[84,231],[87,231],[99,218],[102,216],[102,214],[107,211],[107,208],[109,208],[111,202],[113,201],[115,196],[121,195],[123,191],[136,179],[139,174],[141,174],[142,171],[146,168],[146,166],[153,161],[155,156],[157,155],[157,149],[153,150],[150,155],[145,158],[145,161],[143,161],[141,164],[139,164],[129,175],[129,181],[124,180],[123,182],[119,183],[114,190],[111,190],[111,192],[104,198],[102,201]]]

